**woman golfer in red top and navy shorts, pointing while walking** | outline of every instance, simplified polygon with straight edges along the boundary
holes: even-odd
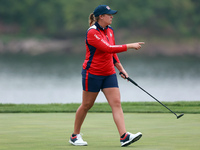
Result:
[[[82,70],[82,104],[77,109],[74,132],[69,140],[73,145],[87,145],[80,135],[80,130],[87,112],[93,106],[100,90],[112,108],[121,146],[127,146],[142,137],[140,132],[132,134],[126,131],[114,67],[128,77],[116,53],[125,52],[128,49],[138,50],[144,42],[115,45],[114,32],[109,25],[116,13],[116,10],[111,10],[107,5],[99,5],[89,17],[90,28],[85,40],[86,58]],[[123,75],[121,76],[125,78]]]

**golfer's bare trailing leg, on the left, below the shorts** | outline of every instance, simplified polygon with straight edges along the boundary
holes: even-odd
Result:
[[[87,115],[88,110],[94,105],[95,99],[99,92],[83,91],[82,104],[76,111],[74,134],[79,134],[83,121]]]

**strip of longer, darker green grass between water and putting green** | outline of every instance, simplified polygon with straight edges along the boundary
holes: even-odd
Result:
[[[176,113],[200,114],[200,101],[163,102]],[[80,104],[0,104],[0,113],[76,112]],[[123,102],[126,113],[170,113],[158,102]],[[108,103],[95,103],[90,112],[111,112]]]

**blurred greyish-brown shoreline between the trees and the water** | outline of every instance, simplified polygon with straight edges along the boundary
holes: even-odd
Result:
[[[83,38],[52,40],[52,39],[12,39],[3,41],[0,39],[0,54],[4,53],[25,53],[30,55],[40,55],[45,53],[82,53],[85,51]],[[164,56],[183,56],[191,55],[200,57],[200,43],[198,39],[173,40],[158,38],[135,38],[133,40],[117,39],[117,44],[130,43],[131,41],[144,41],[145,45],[139,51],[142,55],[164,55]],[[128,53],[131,51],[128,51]]]

